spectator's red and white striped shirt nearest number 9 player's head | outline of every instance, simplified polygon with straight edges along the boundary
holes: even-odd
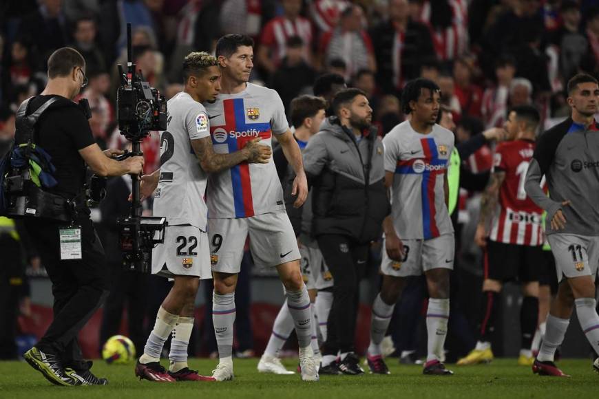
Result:
[[[271,49],[271,58],[275,65],[280,65],[287,52],[287,39],[291,36],[300,36],[304,41],[304,58],[308,61],[308,49],[312,48],[312,25],[304,17],[297,17],[295,21],[285,17],[275,17],[266,23],[260,44]]]

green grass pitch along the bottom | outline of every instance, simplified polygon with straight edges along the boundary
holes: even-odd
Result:
[[[210,374],[216,360],[191,359],[200,374]],[[167,365],[167,360],[162,359]],[[297,360],[286,359],[288,369]],[[515,359],[494,360],[491,365],[456,367],[454,376],[423,376],[420,366],[398,365],[388,359],[390,376],[322,376],[319,382],[302,382],[297,374],[259,374],[258,359],[236,359],[235,380],[228,382],[178,382],[161,384],[139,381],[133,365],[94,363],[94,374],[109,379],[107,387],[56,387],[24,362],[0,362],[0,398],[260,398],[260,399],[350,399],[350,398],[567,398],[586,399],[599,395],[599,375],[591,360],[562,360],[559,365],[571,378],[539,377],[529,367],[518,367]]]

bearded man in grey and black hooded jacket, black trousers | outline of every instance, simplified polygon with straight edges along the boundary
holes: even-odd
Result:
[[[354,352],[358,285],[370,242],[379,239],[389,211],[383,144],[371,125],[364,91],[339,91],[333,111],[304,149],[304,168],[313,184],[312,235],[335,281],[320,372],[364,374]]]

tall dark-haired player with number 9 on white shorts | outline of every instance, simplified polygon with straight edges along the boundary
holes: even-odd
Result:
[[[222,93],[215,102],[204,103],[211,122],[214,150],[231,153],[244,142],[260,138],[272,146],[276,136],[296,177],[294,206],[302,206],[308,186],[302,153],[293,139],[285,109],[276,91],[248,83],[253,67],[253,40],[227,34],[216,44],[222,72]],[[212,319],[220,362],[213,372],[216,380],[233,378],[233,322],[235,285],[243,247],[249,235],[250,249],[258,266],[276,267],[286,290],[287,303],[300,343],[303,380],[318,380],[311,349],[310,298],[302,281],[300,251],[285,212],[283,191],[275,164],[242,162],[213,173],[207,189],[208,230],[214,277]]]

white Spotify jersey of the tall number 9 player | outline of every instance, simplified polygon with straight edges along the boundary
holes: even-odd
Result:
[[[204,103],[211,126],[214,151],[233,153],[254,138],[273,147],[273,133],[289,129],[281,98],[273,89],[247,83],[237,94],[219,94]],[[231,169],[211,173],[207,202],[209,217],[251,217],[285,210],[283,190],[273,158],[267,164],[242,162]]]

